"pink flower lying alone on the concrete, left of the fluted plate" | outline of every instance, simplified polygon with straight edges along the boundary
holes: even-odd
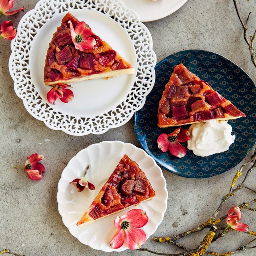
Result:
[[[43,155],[39,155],[37,153],[30,155],[27,157],[27,161],[25,166],[14,166],[14,168],[24,168],[24,171],[27,173],[31,180],[41,180],[44,176],[45,167],[39,161],[44,159]]]

